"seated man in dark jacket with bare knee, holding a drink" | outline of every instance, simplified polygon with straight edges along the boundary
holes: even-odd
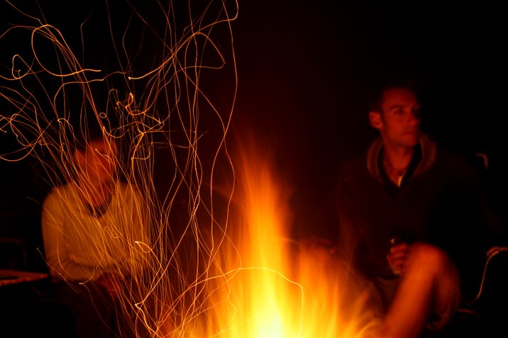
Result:
[[[339,244],[372,283],[378,336],[419,337],[477,290],[468,282],[501,225],[472,167],[421,133],[411,84],[382,86],[369,120],[380,138],[338,183]]]

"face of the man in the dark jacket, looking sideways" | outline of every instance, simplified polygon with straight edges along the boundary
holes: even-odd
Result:
[[[409,89],[387,89],[382,97],[381,112],[371,112],[370,122],[380,131],[386,145],[414,147],[421,136],[420,103]]]

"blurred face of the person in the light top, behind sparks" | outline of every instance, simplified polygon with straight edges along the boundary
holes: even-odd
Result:
[[[92,140],[84,152],[76,151],[75,159],[90,182],[108,183],[116,170],[116,146],[107,140]]]

